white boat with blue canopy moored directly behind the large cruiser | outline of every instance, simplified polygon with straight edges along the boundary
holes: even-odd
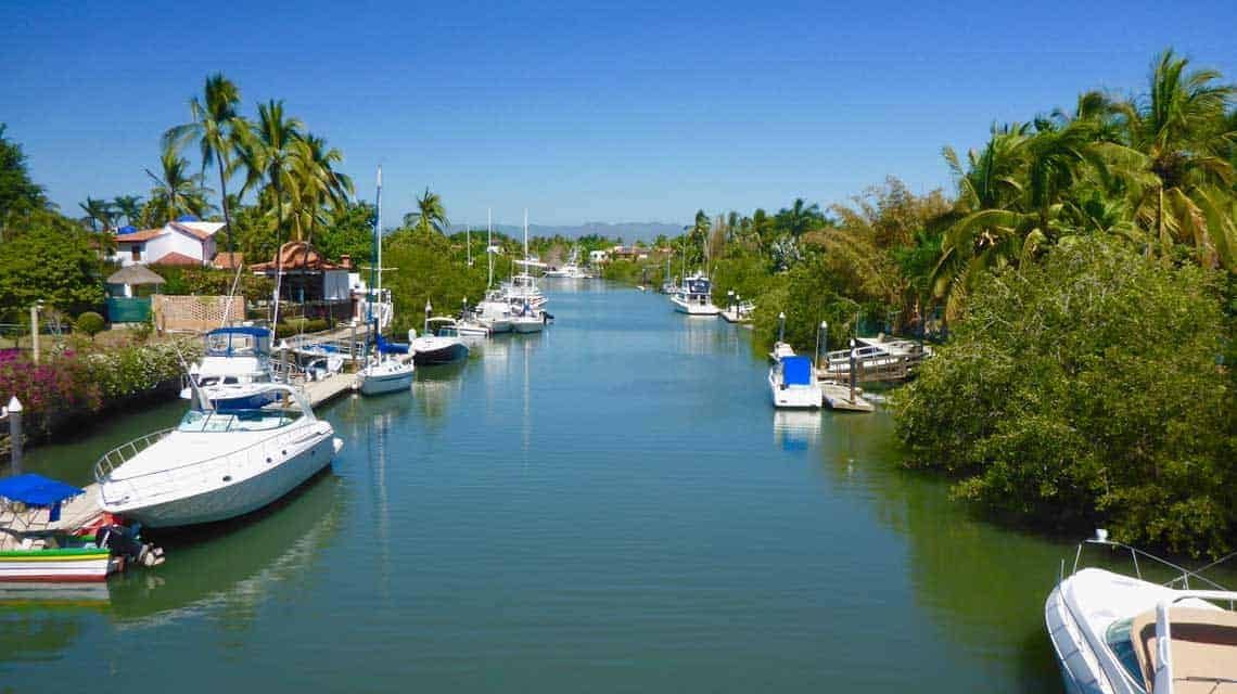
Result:
[[[250,325],[216,328],[203,339],[203,356],[189,366],[181,398],[194,400],[197,387],[219,407],[261,407],[273,379],[271,330]]]

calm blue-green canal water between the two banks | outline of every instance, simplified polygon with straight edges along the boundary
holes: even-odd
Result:
[[[887,413],[774,413],[750,333],[602,282],[412,393],[168,560],[0,606],[0,692],[1059,692],[1072,547],[908,473]],[[168,405],[27,466],[84,484]],[[0,596],[4,598],[4,596]]]

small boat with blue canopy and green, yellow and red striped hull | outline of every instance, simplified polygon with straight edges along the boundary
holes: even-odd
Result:
[[[126,559],[162,563],[162,552],[141,544],[135,529],[101,526],[100,537],[61,527],[63,507],[84,494],[35,474],[0,480],[0,583],[101,581]]]

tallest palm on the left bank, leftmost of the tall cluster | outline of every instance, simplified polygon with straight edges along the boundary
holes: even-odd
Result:
[[[189,113],[193,121],[172,127],[163,134],[165,146],[179,146],[197,140],[202,150],[202,171],[212,163],[219,166],[219,197],[224,208],[224,223],[228,225],[229,251],[235,251],[231,240],[231,212],[228,209],[228,176],[231,166],[231,152],[236,147],[236,132],[241,127],[240,89],[235,83],[215,73],[207,78],[205,100],[197,96],[189,99]]]

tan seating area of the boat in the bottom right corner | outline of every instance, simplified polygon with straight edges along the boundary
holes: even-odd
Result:
[[[1227,692],[1216,688],[1217,680],[1237,677],[1237,612],[1204,607],[1171,607],[1169,610],[1173,642],[1174,694]],[[1134,654],[1143,670],[1147,692],[1154,689],[1155,668],[1159,666],[1155,637],[1155,610],[1134,617],[1129,627]],[[1231,687],[1231,685],[1230,685]]]

